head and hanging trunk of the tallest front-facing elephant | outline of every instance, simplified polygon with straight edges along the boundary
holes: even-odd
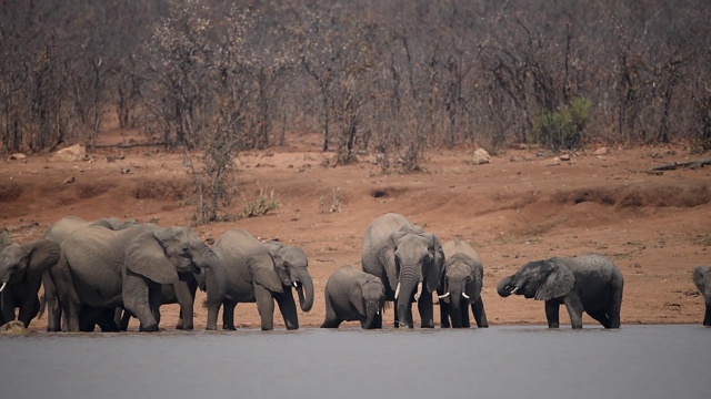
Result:
[[[404,226],[392,233],[384,247],[384,264],[390,287],[395,287],[395,311],[400,324],[409,325],[410,304],[424,290],[440,285],[444,253],[432,233],[414,233]]]

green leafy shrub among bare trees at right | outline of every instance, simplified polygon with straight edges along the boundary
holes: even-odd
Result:
[[[591,106],[587,99],[574,99],[568,109],[542,112],[533,123],[538,142],[555,152],[578,149],[583,143]]]

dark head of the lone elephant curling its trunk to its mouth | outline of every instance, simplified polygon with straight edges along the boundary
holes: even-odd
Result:
[[[570,268],[552,258],[523,265],[515,274],[502,278],[497,291],[502,297],[515,294],[549,300],[568,295],[574,284],[575,277]]]

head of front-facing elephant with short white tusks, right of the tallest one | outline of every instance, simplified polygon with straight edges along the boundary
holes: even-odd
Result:
[[[462,326],[462,309],[480,300],[483,276],[477,273],[471,257],[464,254],[454,254],[447,259],[444,278],[440,300],[451,304],[452,325]]]

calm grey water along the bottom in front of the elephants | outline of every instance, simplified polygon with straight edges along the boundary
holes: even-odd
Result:
[[[703,398],[711,329],[0,337],[2,398]]]

